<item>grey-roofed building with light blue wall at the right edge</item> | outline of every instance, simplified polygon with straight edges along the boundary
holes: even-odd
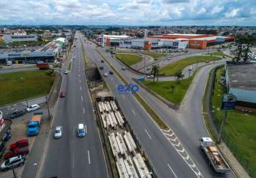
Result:
[[[239,105],[256,106],[256,63],[227,63],[226,84]]]

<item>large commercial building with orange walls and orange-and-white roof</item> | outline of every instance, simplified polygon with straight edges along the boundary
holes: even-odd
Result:
[[[217,35],[203,35],[203,34],[164,34],[160,36],[149,36],[154,39],[169,39],[188,41],[189,48],[205,49],[207,46],[213,46],[220,43],[234,41],[233,36],[217,36]]]

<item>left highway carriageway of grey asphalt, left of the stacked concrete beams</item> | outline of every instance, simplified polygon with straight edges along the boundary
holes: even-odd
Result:
[[[102,145],[84,75],[81,43],[74,48],[72,71],[64,75],[45,155],[37,177],[107,177]],[[68,63],[64,66],[68,68]],[[87,125],[87,135],[77,137],[79,123]],[[54,128],[63,127],[63,137],[53,139]]]

